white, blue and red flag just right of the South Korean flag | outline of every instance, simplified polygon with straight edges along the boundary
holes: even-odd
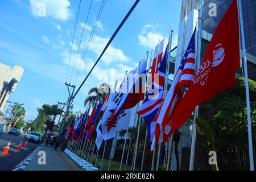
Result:
[[[113,127],[117,117],[122,110],[131,109],[144,99],[144,90],[146,87],[146,72],[147,72],[148,56],[145,57],[139,65],[138,71],[135,74],[129,73],[126,82],[121,86],[121,92],[118,92],[114,97],[115,105],[117,105],[108,123],[108,131]],[[134,73],[134,72],[133,72]]]

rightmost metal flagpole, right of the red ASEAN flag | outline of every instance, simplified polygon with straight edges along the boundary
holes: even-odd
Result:
[[[245,71],[245,91],[246,91],[246,107],[247,107],[247,125],[248,125],[248,140],[249,140],[249,158],[250,158],[250,170],[254,171],[254,159],[253,159],[253,140],[251,134],[251,109],[250,109],[250,95],[249,95],[249,83],[248,83],[248,71],[247,71],[247,56],[245,47],[245,32],[243,30],[243,14],[242,14],[242,3],[238,0],[238,10],[240,19],[240,30],[242,39],[242,50],[243,50],[243,68]]]

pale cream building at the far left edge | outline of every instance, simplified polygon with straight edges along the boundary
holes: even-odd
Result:
[[[5,108],[10,93],[14,92],[24,69],[18,65],[11,68],[0,63],[0,111]]]

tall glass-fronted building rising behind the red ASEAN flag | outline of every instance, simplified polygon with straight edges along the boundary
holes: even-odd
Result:
[[[214,34],[218,23],[220,22],[222,16],[225,14],[231,2],[232,0],[204,0],[201,59],[203,59],[210,39],[212,38],[212,35]],[[248,75],[251,80],[256,81],[256,0],[241,0],[241,2],[244,22],[243,28],[245,31]],[[198,16],[201,11],[200,3],[201,0],[183,0],[181,3],[179,33],[176,57],[174,59],[175,73],[179,68],[180,61],[184,55],[185,49],[187,48],[193,31],[197,26]],[[215,5],[217,9],[216,16],[212,16],[212,14],[209,14],[209,11]],[[242,72],[238,71],[238,74],[241,75]],[[176,152],[174,150],[174,147],[172,147],[172,159],[176,160],[171,160],[171,168],[188,170],[192,138],[192,121],[186,122],[185,125],[181,127],[179,132],[181,133],[181,136],[180,139],[177,141]],[[204,154],[197,155],[203,156]],[[197,158],[196,160],[200,160],[200,158]],[[207,166],[204,160],[200,162],[197,161],[196,163],[200,163],[200,168],[205,168]]]

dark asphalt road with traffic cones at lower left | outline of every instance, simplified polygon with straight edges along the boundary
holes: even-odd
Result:
[[[0,151],[2,152],[6,147],[7,143],[11,141],[9,155],[0,154],[0,171],[11,171],[18,165],[26,156],[28,156],[36,147],[39,146],[37,143],[27,143],[27,148],[23,147],[25,139],[24,135],[14,136],[3,133],[0,136]],[[22,150],[16,150],[20,141],[22,141]],[[0,152],[0,153],[1,153]]]

